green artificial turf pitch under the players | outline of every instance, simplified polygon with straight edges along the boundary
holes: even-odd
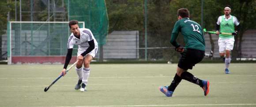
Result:
[[[70,66],[70,65],[69,65]],[[177,64],[91,64],[86,92],[74,89],[75,67],[47,92],[63,65],[0,65],[0,107],[162,107],[256,106],[256,63],[200,63],[188,70],[210,81],[203,89],[182,80],[166,97],[159,86],[169,86]]]

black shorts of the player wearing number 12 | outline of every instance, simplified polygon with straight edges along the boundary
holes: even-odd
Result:
[[[199,63],[203,60],[204,52],[205,51],[188,48],[186,51],[181,53],[182,56],[178,66],[184,70],[192,70],[193,66],[195,66],[196,63]]]

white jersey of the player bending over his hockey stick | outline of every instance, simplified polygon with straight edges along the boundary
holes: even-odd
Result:
[[[73,48],[74,45],[78,45],[78,50],[86,50],[89,47],[88,41],[92,40],[94,40],[95,48],[98,48],[98,42],[89,29],[79,28],[79,31],[80,39],[76,38],[75,35],[71,33],[68,38],[68,49]]]

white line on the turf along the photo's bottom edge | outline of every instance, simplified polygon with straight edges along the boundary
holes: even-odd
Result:
[[[75,106],[75,107],[148,107],[148,106],[241,106],[256,105],[256,103],[237,103],[237,104],[177,104],[177,105],[131,105],[131,106]]]

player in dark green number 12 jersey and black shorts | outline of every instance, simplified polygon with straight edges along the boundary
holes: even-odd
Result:
[[[189,19],[189,11],[186,8],[181,8],[177,11],[178,21],[175,23],[170,43],[175,47],[177,52],[181,52],[181,59],[179,60],[177,73],[175,74],[173,81],[169,87],[159,87],[159,90],[166,96],[171,97],[177,85],[182,79],[190,81],[196,85],[199,85],[203,91],[204,96],[207,96],[209,92],[209,81],[200,80],[187,70],[199,63],[205,52],[205,42],[203,37],[203,31],[201,26]],[[176,42],[178,34],[184,37],[185,47],[181,47]]]

